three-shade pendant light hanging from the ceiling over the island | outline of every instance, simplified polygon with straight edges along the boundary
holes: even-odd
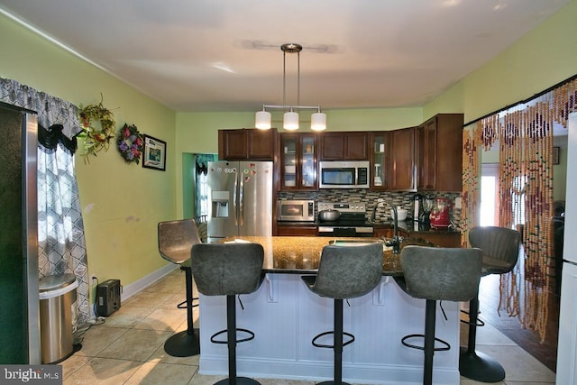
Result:
[[[295,110],[316,110],[316,113],[311,115],[310,128],[313,131],[324,131],[326,129],[326,115],[321,112],[320,105],[299,105],[300,104],[300,51],[303,50],[302,45],[296,43],[282,44],[282,105],[262,105],[262,111],[258,111],[255,115],[254,126],[261,130],[270,129],[271,115],[267,109],[283,109],[287,111],[283,115],[283,128],[285,130],[298,130],[298,112]],[[297,53],[298,55],[298,71],[297,71],[297,105],[287,105],[287,53]]]

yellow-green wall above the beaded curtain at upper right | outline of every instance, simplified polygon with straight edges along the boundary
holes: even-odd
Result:
[[[460,111],[465,123],[525,100],[577,73],[577,0],[424,107]]]

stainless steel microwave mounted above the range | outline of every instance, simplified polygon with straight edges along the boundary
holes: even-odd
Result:
[[[368,160],[319,161],[319,188],[369,188]]]

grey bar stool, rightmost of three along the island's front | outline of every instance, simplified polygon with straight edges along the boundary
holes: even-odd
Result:
[[[403,278],[397,282],[409,296],[426,299],[425,334],[406,335],[401,344],[423,350],[423,384],[433,383],[433,355],[451,345],[435,337],[436,301],[468,301],[475,297],[481,279],[481,250],[406,246],[400,254]],[[423,346],[409,339],[423,338]],[[442,347],[435,347],[435,342]]]

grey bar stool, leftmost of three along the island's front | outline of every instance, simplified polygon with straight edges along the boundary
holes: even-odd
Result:
[[[252,340],[254,333],[236,327],[235,296],[260,288],[263,261],[264,250],[258,243],[199,243],[192,247],[190,267],[198,292],[205,296],[226,296],[226,329],[210,337],[213,344],[228,345],[228,378],[216,384],[259,384],[236,376],[236,344]],[[248,336],[237,340],[237,332]],[[224,333],[226,341],[216,340],[216,336]]]

